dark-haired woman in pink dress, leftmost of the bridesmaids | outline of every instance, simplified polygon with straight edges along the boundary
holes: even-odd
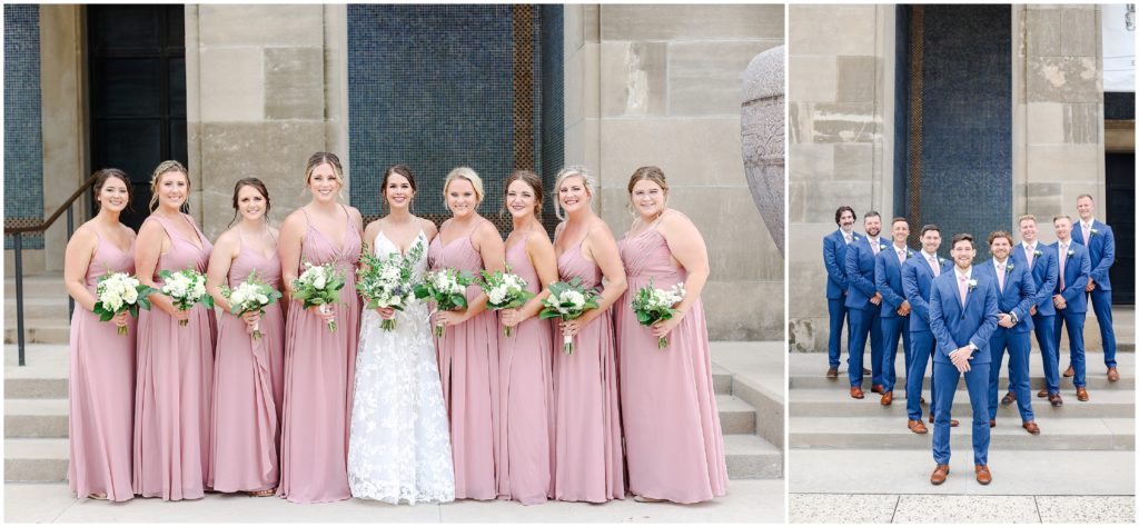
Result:
[[[64,282],[75,298],[71,326],[67,481],[76,496],[126,501],[131,488],[136,324],[123,312],[103,323],[92,313],[95,286],[110,272],[134,274],[134,231],[118,222],[131,183],[118,168],[95,180],[98,214],[67,241]],[[118,335],[117,328],[129,328]]]

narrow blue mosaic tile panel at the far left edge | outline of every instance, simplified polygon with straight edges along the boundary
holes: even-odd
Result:
[[[40,7],[3,7],[5,219],[43,220],[43,146],[40,124]],[[11,239],[5,237],[5,248]],[[24,237],[24,248],[43,238]]]

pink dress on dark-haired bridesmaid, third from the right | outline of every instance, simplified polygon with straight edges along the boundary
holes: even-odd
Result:
[[[506,250],[506,262],[539,294],[542,282],[526,254],[525,234]],[[499,496],[531,505],[552,496],[554,338],[538,316],[499,334]]]

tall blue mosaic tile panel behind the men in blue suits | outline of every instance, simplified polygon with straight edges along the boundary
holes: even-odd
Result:
[[[924,8],[920,214],[948,253],[954,233],[1011,228],[1011,11]],[[989,257],[981,241],[977,260]]]

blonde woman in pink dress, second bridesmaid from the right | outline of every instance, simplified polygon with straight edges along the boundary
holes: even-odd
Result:
[[[597,187],[585,168],[562,168],[555,211],[563,219],[555,231],[558,277],[581,279],[601,288],[598,307],[560,323],[560,334],[574,337],[574,353],[554,354],[555,497],[600,503],[625,496],[621,454],[621,413],[609,306],[625,291],[616,241],[609,227],[593,213]],[[566,216],[557,207],[565,208]],[[558,338],[560,341],[560,338]],[[560,348],[560,346],[558,346]]]

